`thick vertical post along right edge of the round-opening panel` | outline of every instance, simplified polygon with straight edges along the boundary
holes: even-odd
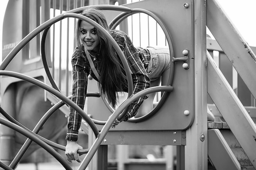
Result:
[[[194,11],[194,94],[195,118],[186,130],[185,169],[207,170],[207,59],[206,2],[195,0]]]

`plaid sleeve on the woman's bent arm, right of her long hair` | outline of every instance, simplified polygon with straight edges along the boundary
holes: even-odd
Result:
[[[128,65],[130,67],[130,72],[132,74],[132,82],[133,82],[133,94],[138,93],[150,86],[150,79],[146,73],[144,65],[139,56],[139,52],[133,46],[130,38],[128,35],[124,34],[123,39],[120,40],[122,45],[119,46],[124,52]],[[123,43],[122,43],[123,41]],[[134,117],[137,114],[139,106],[142,104],[144,99],[147,96],[140,97],[139,99],[135,100],[128,110],[128,113],[123,118],[124,121],[127,121],[131,117]]]

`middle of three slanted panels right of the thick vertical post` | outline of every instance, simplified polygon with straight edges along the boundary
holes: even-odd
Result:
[[[253,166],[256,167],[254,147],[256,126],[209,53],[207,59],[207,91]]]

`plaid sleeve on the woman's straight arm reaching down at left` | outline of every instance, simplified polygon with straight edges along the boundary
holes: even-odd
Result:
[[[75,49],[72,56],[72,68],[73,84],[71,100],[83,109],[87,92],[87,77],[89,74],[85,69],[85,60],[79,55],[78,49]],[[77,141],[81,119],[81,115],[74,108],[69,107],[66,140]]]

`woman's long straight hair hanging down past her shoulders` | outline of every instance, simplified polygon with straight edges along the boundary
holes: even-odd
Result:
[[[81,15],[84,15],[106,29],[110,33],[108,28],[107,20],[103,13],[97,8],[86,7]],[[83,46],[81,45],[79,37],[79,26],[82,20],[78,20],[76,23],[76,34],[75,39],[79,50],[82,52]],[[107,97],[108,102],[115,106],[117,104],[116,96],[117,92],[123,92],[123,86],[127,85],[126,79],[124,78],[124,67],[120,64],[119,56],[117,55],[114,47],[110,41],[106,38],[101,31],[97,30],[99,36],[99,53],[101,58],[101,70],[100,70],[100,92],[104,97]],[[82,55],[82,54],[81,54]]]

